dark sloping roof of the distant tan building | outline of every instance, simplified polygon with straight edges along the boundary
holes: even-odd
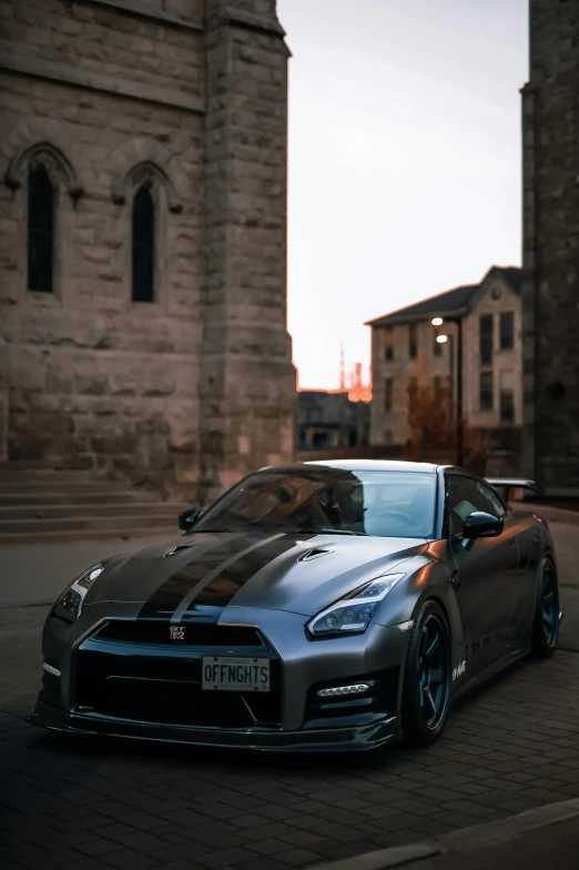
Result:
[[[480,286],[492,273],[499,274],[510,289],[518,295],[520,293],[520,269],[517,266],[491,266],[479,284],[465,284],[436,296],[429,296],[414,305],[393,311],[383,317],[367,321],[366,326],[395,326],[398,323],[423,321],[437,315],[447,317],[461,317],[470,308],[470,303]]]

